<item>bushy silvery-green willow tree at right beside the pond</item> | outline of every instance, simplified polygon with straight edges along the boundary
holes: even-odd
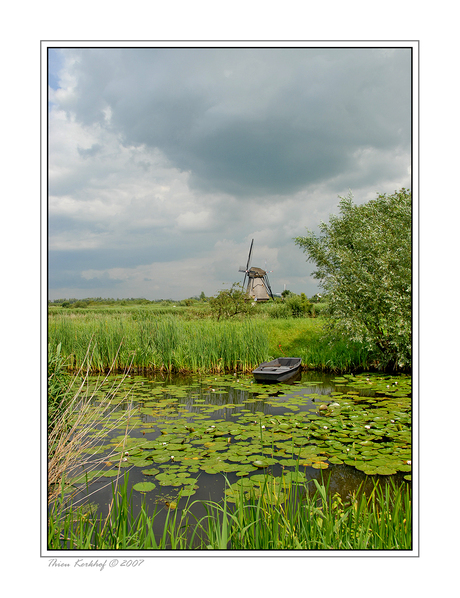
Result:
[[[366,204],[340,197],[339,215],[295,242],[316,264],[333,327],[378,353],[411,364],[412,197],[407,189]]]

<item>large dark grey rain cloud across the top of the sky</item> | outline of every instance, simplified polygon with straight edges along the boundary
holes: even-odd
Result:
[[[408,50],[81,50],[67,107],[159,147],[204,191],[282,195],[410,148]],[[225,76],[225,73],[231,73]],[[73,103],[72,103],[73,102]],[[66,107],[65,104],[63,104]]]

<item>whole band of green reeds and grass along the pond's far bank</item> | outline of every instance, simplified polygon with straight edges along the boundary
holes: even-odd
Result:
[[[364,370],[372,355],[361,345],[325,334],[321,318],[273,319],[259,316],[237,321],[184,319],[148,310],[106,314],[73,313],[49,318],[49,350],[61,346],[69,368],[81,367],[93,343],[92,369],[110,366],[136,371],[250,371],[262,361],[301,357],[305,369]]]

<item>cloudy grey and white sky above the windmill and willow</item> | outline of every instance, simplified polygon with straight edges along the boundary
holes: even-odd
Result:
[[[294,244],[410,188],[409,48],[50,48],[49,299],[214,295],[252,265],[308,296]]]

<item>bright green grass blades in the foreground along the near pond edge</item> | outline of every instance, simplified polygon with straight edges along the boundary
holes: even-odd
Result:
[[[284,488],[274,500],[267,477],[260,492],[241,490],[236,504],[199,503],[167,512],[162,529],[155,529],[158,511],[148,513],[145,501],[135,515],[127,477],[114,489],[108,517],[62,512],[56,503],[49,516],[50,549],[201,549],[201,550],[410,550],[412,519],[410,487],[374,484],[370,494],[359,488],[348,501],[330,496],[326,484]]]

